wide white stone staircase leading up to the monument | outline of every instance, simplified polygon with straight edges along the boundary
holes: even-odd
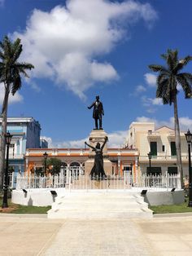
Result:
[[[138,192],[103,190],[64,192],[57,196],[48,218],[151,218],[153,212]]]

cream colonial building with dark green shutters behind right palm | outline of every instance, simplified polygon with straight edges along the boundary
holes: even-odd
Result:
[[[132,122],[129,126],[126,148],[137,148],[138,171],[147,174],[177,174],[175,132],[171,128],[163,126],[155,129],[154,122]],[[189,161],[185,132],[181,132],[181,159],[185,177],[188,175]]]

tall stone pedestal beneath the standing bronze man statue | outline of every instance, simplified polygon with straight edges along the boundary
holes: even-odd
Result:
[[[100,143],[102,146],[106,136],[107,133],[104,130],[92,130],[89,135],[89,145],[95,147],[97,143]],[[85,174],[90,174],[90,171],[94,166],[94,155],[95,152],[92,151],[92,148],[89,148],[89,159],[85,161]],[[105,174],[112,174],[112,163],[107,158],[107,143],[103,148],[103,163]]]

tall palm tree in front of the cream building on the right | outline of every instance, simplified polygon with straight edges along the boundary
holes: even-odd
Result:
[[[184,187],[183,183],[183,172],[181,166],[181,138],[180,138],[180,127],[179,118],[177,112],[177,86],[181,85],[185,99],[190,99],[192,96],[192,74],[181,73],[181,69],[192,60],[192,56],[188,55],[185,58],[178,59],[178,51],[167,51],[166,54],[161,55],[166,61],[166,66],[151,64],[149,68],[158,72],[157,77],[157,90],[156,98],[161,98],[163,104],[170,104],[174,106],[174,121],[175,121],[175,142],[177,150],[177,167],[178,173],[181,175],[181,188]]]

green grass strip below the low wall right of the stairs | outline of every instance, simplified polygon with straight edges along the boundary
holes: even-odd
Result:
[[[186,200],[185,203],[181,205],[149,205],[149,208],[154,211],[154,214],[174,214],[192,212],[192,207],[188,207],[187,205],[188,200]]]

